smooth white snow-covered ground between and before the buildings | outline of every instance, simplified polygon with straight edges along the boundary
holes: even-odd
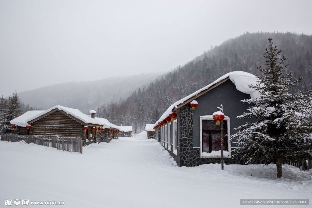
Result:
[[[275,165],[178,167],[146,132],[92,144],[83,154],[0,141],[0,159],[0,207],[10,207],[6,199],[29,199],[65,202],[52,207],[233,208],[255,198],[310,198],[299,207],[312,207],[312,170],[283,165],[284,177],[276,179]]]

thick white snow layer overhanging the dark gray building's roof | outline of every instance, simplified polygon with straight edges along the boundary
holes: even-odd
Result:
[[[256,91],[255,89],[250,88],[248,85],[257,85],[258,83],[258,79],[256,78],[255,75],[252,75],[250,73],[244,72],[244,71],[233,71],[230,73],[227,73],[226,75],[223,75],[222,77],[220,77],[219,79],[215,80],[214,82],[212,82],[211,84],[207,85],[206,87],[203,87],[200,90],[197,90],[196,92],[194,92],[193,94],[190,94],[188,96],[186,96],[183,99],[180,99],[179,101],[175,102],[174,104],[172,104],[166,111],[165,113],[159,118],[158,121],[156,121],[156,123],[154,124],[154,126],[156,124],[158,124],[159,122],[161,122],[163,119],[165,119],[169,114],[171,114],[172,110],[174,108],[177,108],[179,104],[183,104],[185,101],[187,101],[188,99],[191,99],[192,97],[196,96],[197,94],[199,94],[200,92],[210,88],[212,85],[217,84],[218,82],[225,80],[229,78],[234,85],[236,86],[236,89],[246,93],[246,94],[250,94],[251,98],[260,98],[260,94],[258,93],[258,91]]]

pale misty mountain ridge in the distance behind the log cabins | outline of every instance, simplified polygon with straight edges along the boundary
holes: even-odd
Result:
[[[29,106],[49,109],[55,105],[79,109],[89,113],[100,105],[120,103],[133,90],[146,88],[159,73],[120,76],[95,81],[69,82],[50,85],[18,93]]]

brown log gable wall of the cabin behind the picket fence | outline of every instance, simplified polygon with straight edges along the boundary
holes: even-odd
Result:
[[[60,111],[55,111],[31,125],[32,135],[85,137],[84,125]]]

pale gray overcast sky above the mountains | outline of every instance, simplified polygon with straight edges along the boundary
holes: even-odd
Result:
[[[246,31],[311,35],[311,8],[311,0],[0,0],[0,94],[169,71]]]

